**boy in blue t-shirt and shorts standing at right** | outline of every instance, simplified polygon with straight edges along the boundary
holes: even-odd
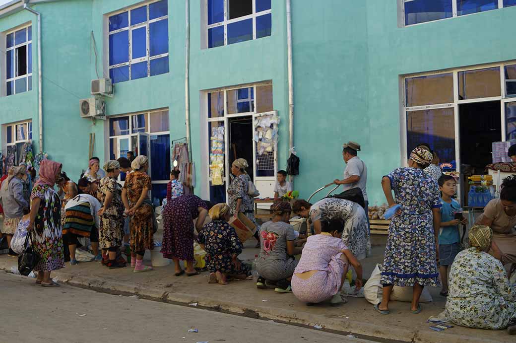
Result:
[[[457,181],[453,176],[443,175],[439,178],[441,191],[441,229],[439,230],[439,273],[443,288],[439,294],[448,295],[448,272],[455,256],[460,252],[459,224],[467,224],[466,219],[455,219],[455,214],[462,212],[459,203],[451,198],[457,192]]]

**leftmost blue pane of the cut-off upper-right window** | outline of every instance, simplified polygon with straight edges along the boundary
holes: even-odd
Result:
[[[405,25],[451,18],[451,0],[414,0],[405,3]]]

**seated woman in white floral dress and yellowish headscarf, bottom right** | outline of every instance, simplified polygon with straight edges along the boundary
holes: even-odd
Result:
[[[507,279],[502,262],[489,255],[493,231],[475,225],[470,248],[451,265],[446,317],[467,328],[501,330],[516,334],[516,285]]]

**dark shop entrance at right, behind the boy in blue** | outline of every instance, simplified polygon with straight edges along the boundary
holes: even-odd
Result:
[[[500,117],[499,101],[459,105],[460,161],[464,174],[485,174],[486,165],[492,163],[491,144],[499,142],[502,136]]]

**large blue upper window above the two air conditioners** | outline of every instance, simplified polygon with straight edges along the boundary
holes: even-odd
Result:
[[[109,16],[109,77],[113,83],[168,71],[167,0]]]

